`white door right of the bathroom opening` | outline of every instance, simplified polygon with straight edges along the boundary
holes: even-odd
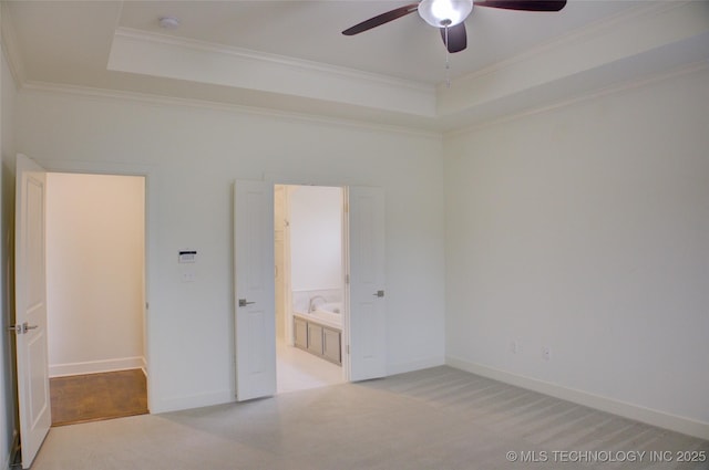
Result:
[[[350,187],[348,199],[349,378],[357,382],[387,375],[384,192]]]

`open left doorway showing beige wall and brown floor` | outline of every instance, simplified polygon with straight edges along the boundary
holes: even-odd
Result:
[[[148,412],[145,177],[49,173],[47,195],[53,425]]]

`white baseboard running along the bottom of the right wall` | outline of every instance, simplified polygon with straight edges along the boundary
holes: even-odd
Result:
[[[544,395],[573,401],[589,408],[623,416],[647,425],[709,440],[709,422],[698,421],[682,416],[671,415],[656,409],[645,408],[613,398],[602,397],[587,391],[563,387],[536,378],[512,374],[493,367],[471,363],[458,357],[446,356],[445,364],[472,374],[504,382],[517,387],[538,391]]]

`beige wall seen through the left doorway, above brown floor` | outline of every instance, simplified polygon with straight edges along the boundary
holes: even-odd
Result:
[[[145,179],[47,175],[50,376],[144,366]]]

